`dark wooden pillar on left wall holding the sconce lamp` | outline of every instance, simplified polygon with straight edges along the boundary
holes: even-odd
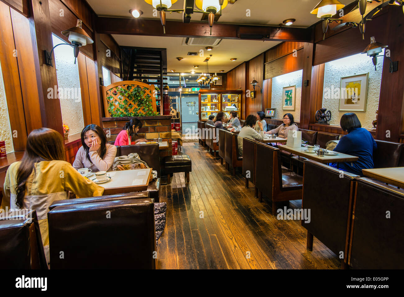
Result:
[[[53,67],[44,63],[44,50],[52,50],[52,26],[50,23],[49,3],[48,0],[29,0],[30,10],[30,27],[32,44],[34,48],[35,62],[37,71],[36,79],[38,84],[39,105],[42,115],[42,125],[52,128],[63,135],[62,114],[60,109],[60,101],[55,94],[57,90],[57,77],[55,68],[55,57],[52,55]],[[38,56],[36,56],[38,54]],[[48,98],[48,89],[53,90],[53,96]],[[36,90],[33,90],[36,91]]]

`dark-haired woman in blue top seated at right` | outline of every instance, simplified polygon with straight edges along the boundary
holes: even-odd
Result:
[[[339,140],[334,151],[359,157],[358,161],[345,163],[332,163],[336,167],[353,174],[363,176],[362,169],[373,168],[373,151],[377,144],[372,134],[364,128],[355,113],[345,113],[341,117],[341,128],[348,134]]]

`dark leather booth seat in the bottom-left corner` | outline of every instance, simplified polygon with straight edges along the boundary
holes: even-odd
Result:
[[[48,269],[35,210],[0,220],[0,243],[0,268]]]

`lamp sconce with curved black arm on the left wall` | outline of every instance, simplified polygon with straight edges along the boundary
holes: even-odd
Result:
[[[53,65],[52,65],[52,52],[55,49],[55,47],[57,47],[57,46],[59,46],[61,44],[67,44],[67,45],[73,47],[74,64],[76,64],[76,59],[77,59],[78,53],[80,51],[79,47],[80,46],[85,46],[86,44],[91,44],[91,43],[94,42],[90,38],[90,36],[88,36],[86,31],[84,31],[84,29],[82,29],[81,25],[82,25],[82,21],[77,20],[76,27],[72,27],[70,29],[67,29],[67,30],[61,32],[64,36],[66,36],[69,39],[69,42],[72,42],[72,44],[59,43],[59,44],[55,45],[50,52],[48,52],[47,50],[44,50],[44,57],[45,57],[44,62],[45,62],[46,65],[49,65],[49,66],[53,67]]]

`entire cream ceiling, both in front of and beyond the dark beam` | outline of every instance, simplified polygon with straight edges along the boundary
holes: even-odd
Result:
[[[279,25],[285,19],[294,18],[295,23],[291,27],[309,27],[319,21],[316,15],[311,15],[312,10],[320,0],[238,0],[235,4],[227,4],[223,9],[218,23],[235,23],[247,25]],[[340,0],[343,4],[349,4],[352,0]],[[131,17],[129,10],[137,8],[143,11],[141,18],[159,19],[153,17],[153,6],[144,0],[87,0],[90,6],[99,16]],[[182,9],[183,0],[178,0],[170,9]],[[196,6],[195,6],[196,8]],[[250,17],[246,16],[246,10],[250,9]],[[202,14],[194,13],[191,21],[200,22]],[[182,14],[167,13],[167,20],[182,21]],[[186,26],[187,24],[183,24]],[[215,26],[215,24],[213,25]],[[175,69],[176,72],[189,72],[193,65],[199,65],[199,71],[204,71],[204,59],[213,54],[209,60],[209,71],[226,72],[244,61],[248,61],[261,52],[268,50],[279,42],[250,41],[250,40],[222,40],[219,46],[208,52],[204,57],[187,56],[187,52],[199,51],[198,46],[183,46],[183,38],[113,35],[120,46],[138,46],[150,48],[167,48],[167,69]],[[183,57],[177,61],[176,57]],[[231,62],[230,58],[237,58]]]

